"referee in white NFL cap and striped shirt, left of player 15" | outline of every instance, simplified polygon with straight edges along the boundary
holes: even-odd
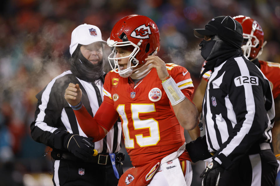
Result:
[[[71,36],[71,70],[65,71],[36,95],[38,99],[31,136],[53,148],[53,183],[58,185],[117,186],[123,174],[118,152],[121,125],[116,122],[102,140],[91,142],[81,130],[71,106],[64,99],[69,82],[78,83],[82,101],[92,115],[103,101],[104,50],[98,27],[83,24]],[[98,154],[97,154],[97,152]]]

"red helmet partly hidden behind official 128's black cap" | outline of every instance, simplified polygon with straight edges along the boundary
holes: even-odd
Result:
[[[266,44],[263,39],[262,27],[257,21],[244,15],[233,17],[233,19],[237,20],[243,28],[244,42],[241,48],[244,56],[250,57],[251,61],[258,58]]]

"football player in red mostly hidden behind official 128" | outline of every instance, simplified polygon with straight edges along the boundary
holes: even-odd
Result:
[[[257,21],[243,15],[233,17],[233,19],[237,20],[243,28],[244,42],[241,48],[244,56],[257,65],[270,82],[275,105],[275,121],[272,129],[272,146],[277,161],[280,163],[280,64],[258,60],[258,56],[261,55],[266,41],[264,42],[263,31]],[[202,71],[203,70],[204,68],[202,68]],[[209,76],[211,76],[211,71],[202,75],[202,81],[198,85],[192,99],[198,112],[202,112],[201,105]],[[198,126],[196,128],[198,128]],[[199,133],[197,133],[197,137],[199,137]],[[279,169],[280,166],[278,171]]]

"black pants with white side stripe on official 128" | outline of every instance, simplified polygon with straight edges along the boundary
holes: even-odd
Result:
[[[257,181],[257,185],[274,186],[278,167],[275,155],[271,149],[268,149],[260,151],[255,157],[261,160],[261,162],[255,161],[255,164],[258,164],[257,166],[251,164],[249,155],[244,155],[229,170],[225,170],[220,178],[219,186],[250,186],[252,175],[258,175],[257,172],[260,173],[260,171],[261,175],[255,176],[253,183]],[[253,170],[252,167],[255,167],[255,169]]]

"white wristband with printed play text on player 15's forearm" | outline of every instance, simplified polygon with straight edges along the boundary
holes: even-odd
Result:
[[[177,105],[186,98],[172,77],[165,80],[162,83],[162,87],[166,92],[172,106]]]

